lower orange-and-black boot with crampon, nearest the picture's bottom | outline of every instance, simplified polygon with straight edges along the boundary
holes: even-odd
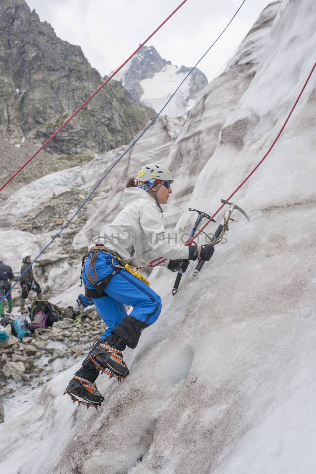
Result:
[[[89,382],[89,380],[83,379],[74,375],[72,380],[68,383],[67,388],[64,391],[64,395],[67,393],[72,399],[72,402],[75,403],[78,401],[79,405],[84,405],[87,408],[93,406],[98,410],[98,407],[101,406],[104,397],[97,389],[95,383]]]

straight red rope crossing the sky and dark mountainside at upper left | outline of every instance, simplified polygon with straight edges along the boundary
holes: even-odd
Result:
[[[12,181],[13,178],[15,178],[15,177],[17,176],[17,174],[20,173],[20,171],[22,171],[23,168],[25,168],[25,166],[27,166],[27,164],[29,164],[30,161],[32,161],[33,158],[35,158],[35,156],[36,156],[41,150],[43,150],[43,148],[44,148],[51,140],[53,140],[54,137],[56,137],[56,135],[67,125],[67,123],[69,123],[69,122],[71,121],[71,119],[72,119],[75,115],[77,115],[77,113],[80,112],[80,110],[81,110],[81,109],[82,109],[82,108],[83,108],[83,107],[84,107],[84,106],[112,79],[112,77],[114,77],[115,74],[117,74],[118,71],[119,71],[120,69],[122,69],[122,67],[125,66],[125,64],[128,63],[128,61],[129,61],[130,59],[132,59],[132,57],[147,43],[148,40],[150,40],[150,38],[151,38],[161,27],[163,27],[163,25],[182,7],[182,5],[183,5],[186,1],[187,1],[187,0],[183,0],[182,3],[181,3],[175,10],[173,10],[173,12],[169,15],[169,17],[167,17],[167,18],[163,21],[163,23],[162,23],[161,25],[159,25],[159,27],[156,28],[156,29],[154,30],[154,32],[153,32],[150,36],[148,36],[148,38],[145,39],[145,41],[144,41],[141,45],[138,46],[138,48],[134,51],[134,53],[131,54],[131,55],[126,59],[126,61],[125,61],[123,64],[121,64],[121,66],[119,66],[119,67],[117,68],[117,70],[116,70],[113,74],[111,74],[110,77],[109,77],[105,82],[103,82],[103,84],[99,87],[99,89],[97,89],[95,92],[93,92],[93,94],[89,97],[89,99],[87,99],[85,102],[83,102],[83,104],[81,105],[81,107],[79,107],[79,109],[77,109],[77,110],[72,114],[71,117],[67,118],[67,120],[63,123],[63,125],[62,125],[60,128],[58,128],[58,130],[55,131],[54,135],[52,135],[50,138],[48,138],[48,140],[45,141],[44,145],[42,145],[40,148],[38,148],[38,150],[34,153],[34,155],[32,155],[32,156],[18,169],[18,171],[16,171],[14,174],[12,174],[12,176],[1,186],[0,191],[2,191],[3,188],[5,188],[5,187],[7,186],[7,184],[9,184],[9,182]]]

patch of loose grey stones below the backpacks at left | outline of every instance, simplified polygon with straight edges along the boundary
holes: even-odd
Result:
[[[31,337],[18,339],[10,335],[10,345],[8,341],[0,341],[0,422],[3,422],[5,399],[14,397],[24,386],[35,389],[73,365],[74,359],[86,354],[90,341],[105,328],[93,310],[77,320],[69,314],[54,322],[52,328],[36,329]],[[10,332],[9,325],[6,330]]]

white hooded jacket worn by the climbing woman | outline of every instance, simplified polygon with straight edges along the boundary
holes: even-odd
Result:
[[[126,262],[140,265],[157,257],[188,258],[189,248],[165,236],[162,214],[152,197],[139,188],[126,188],[124,208],[105,225],[88,249],[97,243],[114,250]],[[168,262],[166,262],[168,264]]]

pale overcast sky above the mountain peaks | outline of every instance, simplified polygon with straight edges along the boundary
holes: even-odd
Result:
[[[102,76],[116,69],[181,0],[26,0],[57,36],[80,45]],[[193,66],[224,29],[242,0],[188,0],[147,46],[172,64]],[[208,81],[226,63],[267,0],[246,0],[233,23],[199,64]]]

